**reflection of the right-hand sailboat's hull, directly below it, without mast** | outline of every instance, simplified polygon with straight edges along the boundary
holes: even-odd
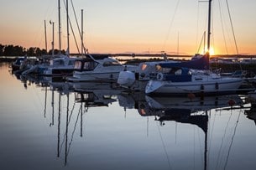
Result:
[[[217,95],[206,97],[175,97],[154,96],[141,93],[122,94],[118,96],[119,105],[125,108],[135,108],[141,116],[172,116],[196,115],[212,109],[223,109],[234,106],[243,106],[242,96]]]

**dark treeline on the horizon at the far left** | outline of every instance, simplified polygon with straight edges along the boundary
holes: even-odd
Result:
[[[59,50],[55,49],[55,54],[58,54]],[[46,51],[46,49],[39,49],[38,47],[30,47],[26,49],[18,45],[3,45],[0,44],[0,56],[41,56],[45,54],[52,54],[52,49]],[[65,50],[61,50],[61,54],[65,54]]]

